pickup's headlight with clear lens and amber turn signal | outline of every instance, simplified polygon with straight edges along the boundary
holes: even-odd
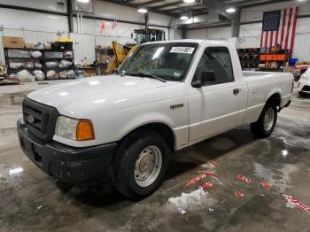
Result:
[[[66,116],[58,117],[55,135],[76,141],[95,139],[90,120],[75,120]]]

